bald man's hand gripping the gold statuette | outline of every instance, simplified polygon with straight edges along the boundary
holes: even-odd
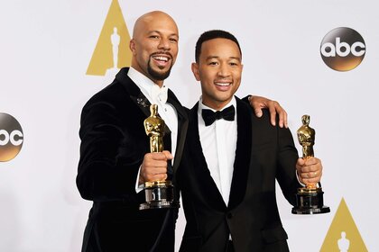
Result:
[[[163,150],[162,152],[146,153],[143,157],[141,166],[139,184],[149,181],[164,181],[167,178],[167,162],[173,157],[171,152]]]

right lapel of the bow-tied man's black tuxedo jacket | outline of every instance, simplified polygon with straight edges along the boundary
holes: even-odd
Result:
[[[252,149],[252,109],[236,98],[237,142],[236,159],[228,208],[233,209],[245,197]]]

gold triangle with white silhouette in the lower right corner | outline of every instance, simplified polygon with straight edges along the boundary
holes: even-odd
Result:
[[[342,198],[320,252],[368,251],[347,203]]]

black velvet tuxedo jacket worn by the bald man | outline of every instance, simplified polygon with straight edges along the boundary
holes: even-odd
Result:
[[[93,201],[83,252],[174,250],[177,210],[139,211],[144,193],[135,193],[138,170],[150,152],[143,121],[150,103],[122,68],[114,82],[91,97],[81,114],[79,192]],[[188,126],[187,112],[169,90],[178,113],[178,142],[173,164],[180,163]],[[177,199],[178,199],[178,195]]]

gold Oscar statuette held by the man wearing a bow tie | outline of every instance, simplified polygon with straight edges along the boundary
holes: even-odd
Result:
[[[315,130],[310,128],[310,116],[301,117],[302,126],[297,131],[299,143],[302,147],[302,158],[314,157],[313,145],[315,144]],[[328,206],[324,206],[321,183],[305,184],[298,188],[296,193],[296,206],[292,208],[294,214],[317,214],[329,212]]]

